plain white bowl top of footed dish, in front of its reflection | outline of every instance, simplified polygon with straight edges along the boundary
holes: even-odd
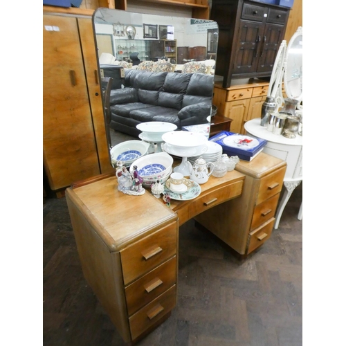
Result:
[[[170,131],[162,136],[162,140],[174,147],[199,147],[208,142],[203,134],[190,131]]]

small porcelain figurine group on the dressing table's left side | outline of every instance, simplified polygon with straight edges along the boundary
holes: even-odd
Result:
[[[133,194],[141,196],[145,193],[142,186],[143,178],[138,174],[137,166],[134,165],[134,170],[129,172],[122,161],[118,161],[116,167],[116,177],[118,179],[118,190],[125,194]]]

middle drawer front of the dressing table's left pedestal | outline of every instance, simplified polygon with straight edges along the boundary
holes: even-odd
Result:
[[[126,287],[129,316],[176,284],[176,256]]]

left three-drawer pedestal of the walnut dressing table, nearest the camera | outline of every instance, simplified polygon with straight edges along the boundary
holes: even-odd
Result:
[[[66,201],[84,277],[122,338],[133,342],[176,306],[179,224],[151,194],[133,197],[117,186],[112,177],[69,188]]]

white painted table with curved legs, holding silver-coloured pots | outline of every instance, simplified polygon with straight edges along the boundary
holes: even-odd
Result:
[[[261,119],[255,118],[245,123],[244,128],[247,134],[263,138],[268,141],[263,152],[286,161],[287,169],[284,176],[284,194],[277,207],[274,228],[279,227],[280,218],[293,190],[302,182],[302,136],[298,134],[295,138],[286,138],[282,135],[275,135],[268,131],[266,127],[260,125]],[[302,219],[302,204],[298,212],[298,219]]]

